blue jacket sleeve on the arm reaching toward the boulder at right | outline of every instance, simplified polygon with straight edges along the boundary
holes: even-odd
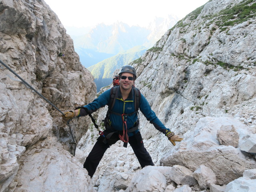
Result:
[[[155,112],[151,109],[148,101],[142,94],[140,99],[140,111],[158,131],[162,132],[163,134],[166,134],[170,131],[170,129],[166,128],[164,124],[162,124],[162,122],[158,119]]]

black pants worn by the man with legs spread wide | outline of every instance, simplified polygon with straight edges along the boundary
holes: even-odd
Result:
[[[112,144],[116,143],[119,140],[118,134],[113,134],[111,138],[112,138]],[[116,140],[116,141],[113,143],[113,140]],[[104,153],[112,144],[104,144],[103,136],[100,136],[98,138],[97,142],[92,148],[92,151],[90,152],[90,154],[88,155],[88,157],[84,162],[84,168],[86,168],[86,170],[88,171],[88,175],[91,178],[95,173],[96,168],[100,163],[100,160],[102,159]],[[154,163],[152,162],[152,158],[150,157],[150,154],[147,152],[146,148],[144,147],[140,132],[138,132],[134,136],[129,137],[129,144],[132,147],[134,154],[138,158],[138,161],[142,168],[144,168],[147,165],[152,165],[152,166],[154,165]]]

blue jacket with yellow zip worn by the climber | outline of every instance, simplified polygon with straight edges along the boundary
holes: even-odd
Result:
[[[118,89],[116,94],[117,94],[116,101],[112,108],[113,112],[119,113],[119,114],[130,114],[135,111],[135,107],[134,107],[135,91],[134,91],[134,89],[132,89],[128,98],[125,101],[122,99],[120,89]],[[108,105],[109,102],[110,102],[110,89],[103,92],[93,102],[89,103],[88,105],[85,105],[84,107],[86,107],[92,113],[92,112],[95,112],[96,110],[98,110],[99,108]],[[160,132],[162,132],[164,134],[166,134],[166,130],[168,130],[168,132],[170,131],[157,118],[156,114],[154,113],[154,111],[152,111],[150,105],[148,104],[148,101],[142,94],[141,94],[139,109],[142,112],[142,114],[146,117],[146,119],[148,121],[150,121],[150,123],[153,124],[157,130],[159,130]],[[85,112],[85,110],[81,109],[79,116],[84,116],[84,115],[87,115],[87,113]],[[121,116],[119,116],[117,114],[110,113],[109,120],[110,120],[110,125],[113,129],[120,130],[120,131],[123,130],[123,122],[122,122]],[[127,129],[132,128],[137,120],[138,120],[138,116],[136,113],[132,114],[131,116],[127,116],[127,118],[126,118]],[[138,132],[138,130],[136,132]],[[132,136],[132,135],[133,135],[133,132],[128,133],[128,136]]]

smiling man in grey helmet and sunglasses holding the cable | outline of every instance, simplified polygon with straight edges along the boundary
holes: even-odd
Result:
[[[137,100],[135,97],[136,95],[138,96],[138,90],[133,86],[135,79],[136,70],[134,67],[126,65],[121,68],[119,73],[120,86],[116,88],[114,104],[112,103],[112,108],[109,106],[108,115],[105,118],[106,130],[103,131],[104,135],[98,137],[92,151],[84,162],[84,168],[87,169],[91,178],[106,150],[118,140],[122,140],[124,146],[127,146],[129,142],[142,168],[148,165],[154,165],[144,147],[142,136],[138,129],[138,113],[134,104]],[[88,115],[88,112],[95,112],[98,108],[110,105],[110,95],[111,89],[106,90],[92,103],[84,107],[79,107],[74,111],[65,112],[65,116],[62,117],[68,120],[74,116],[85,116]],[[173,145],[175,145],[175,141],[180,142],[182,140],[182,138],[174,135],[173,132],[162,124],[142,94],[140,94],[139,108],[147,120],[157,130],[164,133]]]

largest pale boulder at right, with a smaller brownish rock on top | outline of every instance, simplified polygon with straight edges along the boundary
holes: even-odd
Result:
[[[236,128],[240,137],[238,148],[219,144],[216,135],[222,125]],[[248,127],[236,120],[205,117],[198,121],[191,132],[185,134],[180,146],[170,150],[170,155],[161,159],[161,163],[163,166],[186,166],[192,171],[204,165],[216,175],[216,184],[228,184],[241,177],[244,170],[256,168],[255,159],[248,158],[249,154],[242,153],[239,148],[249,134]]]

